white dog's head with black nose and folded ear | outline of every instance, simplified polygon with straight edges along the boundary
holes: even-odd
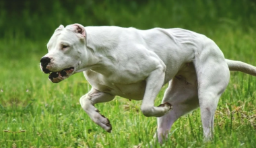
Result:
[[[83,69],[86,59],[86,30],[80,24],[59,26],[47,44],[48,53],[40,60],[44,73],[58,83]]]

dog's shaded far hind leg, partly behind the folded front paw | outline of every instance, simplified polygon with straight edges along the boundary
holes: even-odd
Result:
[[[178,118],[199,107],[197,85],[187,83],[183,79],[177,79],[175,77],[170,81],[162,102],[172,104],[172,110],[168,114],[158,118],[157,136],[159,143],[167,139],[172,124]]]

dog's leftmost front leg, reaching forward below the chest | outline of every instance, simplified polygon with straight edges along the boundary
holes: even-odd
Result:
[[[88,94],[82,96],[80,98],[80,104],[84,111],[90,116],[90,118],[99,126],[104,128],[105,131],[108,133],[111,132],[112,126],[105,116],[100,114],[99,110],[94,107],[94,104],[100,103],[100,102],[109,102],[113,100],[115,96],[98,91],[94,88],[92,88]]]

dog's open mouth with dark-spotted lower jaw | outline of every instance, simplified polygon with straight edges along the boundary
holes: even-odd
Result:
[[[66,79],[67,77],[72,75],[74,71],[75,71],[74,67],[69,67],[69,68],[63,69],[61,71],[50,72],[49,73],[49,79],[53,83],[58,83],[58,82],[62,81],[63,79]]]

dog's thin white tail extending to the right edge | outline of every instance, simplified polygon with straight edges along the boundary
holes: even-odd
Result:
[[[232,61],[228,59],[226,59],[226,63],[228,64],[228,68],[230,71],[241,71],[243,73],[256,76],[256,67],[254,67],[253,65],[249,65],[241,61]]]

